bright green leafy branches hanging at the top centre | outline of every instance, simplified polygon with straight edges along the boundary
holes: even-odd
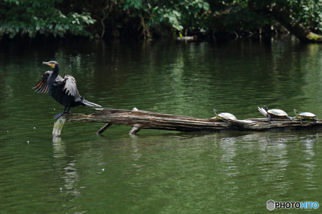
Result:
[[[200,29],[204,26],[209,4],[204,0],[124,0],[113,2],[121,5],[121,11],[131,17],[143,17],[149,30],[165,26],[182,34],[184,29]]]

